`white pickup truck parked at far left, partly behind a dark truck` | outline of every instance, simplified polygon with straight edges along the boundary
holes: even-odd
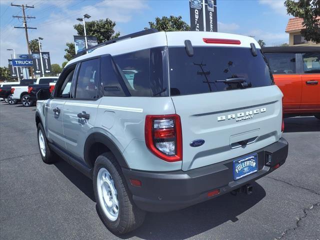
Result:
[[[35,82],[30,82],[31,84],[55,84],[57,81],[57,76],[43,76],[38,77]],[[31,106],[35,101],[30,98],[29,92],[28,92],[28,85],[24,86],[16,86],[14,87],[12,98],[16,99],[17,101],[21,101],[23,106]]]

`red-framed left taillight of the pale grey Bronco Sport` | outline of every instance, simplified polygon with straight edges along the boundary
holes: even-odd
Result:
[[[182,160],[182,130],[180,116],[146,115],[145,143],[150,151],[162,160]]]

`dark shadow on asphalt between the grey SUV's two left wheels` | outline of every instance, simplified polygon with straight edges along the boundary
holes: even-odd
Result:
[[[53,163],[79,190],[81,190],[92,201],[95,201],[92,180],[75,169],[66,161],[59,159]]]

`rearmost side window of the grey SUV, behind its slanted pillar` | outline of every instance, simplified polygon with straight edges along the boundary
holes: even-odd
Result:
[[[165,54],[164,47],[157,47],[113,56],[131,96],[168,95]]]

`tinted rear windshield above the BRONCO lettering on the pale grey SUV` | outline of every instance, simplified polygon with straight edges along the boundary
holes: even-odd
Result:
[[[273,84],[266,59],[260,50],[253,56],[244,47],[193,47],[193,56],[184,47],[169,47],[171,95],[196,94],[238,89],[226,78],[244,78],[251,87]]]

